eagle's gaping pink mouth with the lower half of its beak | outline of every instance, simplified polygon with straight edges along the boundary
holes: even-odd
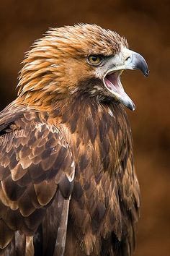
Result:
[[[122,83],[120,82],[120,75],[123,70],[110,71],[104,76],[104,85],[109,90],[110,93],[114,95],[116,101],[124,104],[130,110],[135,110],[135,104],[129,98],[129,96],[125,93],[125,90],[122,87]]]

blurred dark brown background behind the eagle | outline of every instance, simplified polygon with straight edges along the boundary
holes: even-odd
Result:
[[[135,165],[142,193],[135,256],[170,255],[170,1],[23,1],[0,4],[0,109],[17,95],[14,88],[24,52],[48,27],[97,23],[128,39],[148,61],[150,75],[125,72],[123,85],[136,104],[128,111]]]

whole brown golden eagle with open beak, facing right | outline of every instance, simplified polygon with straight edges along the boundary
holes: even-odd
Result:
[[[27,52],[0,113],[0,255],[132,255],[140,188],[125,69],[148,75],[98,25],[50,28]]]

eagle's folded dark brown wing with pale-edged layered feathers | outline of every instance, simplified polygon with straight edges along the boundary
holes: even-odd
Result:
[[[38,240],[34,236],[39,232],[38,227],[47,217],[53,218],[48,208],[61,215],[55,221],[56,230],[50,231],[52,251],[59,247],[63,250],[74,177],[74,161],[68,143],[43,114],[23,112],[16,120],[7,114],[1,116],[1,252],[12,255],[13,251],[15,255],[17,250],[22,255],[34,255],[34,245],[37,248]],[[53,201],[58,205],[55,210]],[[46,232],[47,237],[49,230],[46,226],[43,229],[46,231],[41,235],[45,236]],[[48,241],[44,239],[45,242]],[[47,247],[43,244],[44,249]]]

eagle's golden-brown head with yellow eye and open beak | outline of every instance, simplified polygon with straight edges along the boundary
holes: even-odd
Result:
[[[19,95],[26,93],[28,102],[33,98],[44,104],[56,94],[62,98],[78,93],[134,110],[120,82],[125,69],[140,69],[148,75],[145,59],[128,49],[125,38],[98,25],[58,27],[35,41],[27,53],[19,77]]]

